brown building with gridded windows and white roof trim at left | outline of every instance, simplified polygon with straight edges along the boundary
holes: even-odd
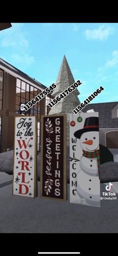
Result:
[[[30,101],[44,89],[44,85],[0,59],[0,152],[13,148],[14,117],[19,115],[19,104]],[[40,116],[48,114],[50,98],[48,94],[26,114],[37,118],[37,151],[40,149]]]

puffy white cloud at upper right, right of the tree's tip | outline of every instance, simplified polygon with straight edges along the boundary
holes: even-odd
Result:
[[[115,28],[100,26],[98,29],[94,30],[85,30],[84,35],[87,40],[106,40],[108,36],[112,35],[115,32]]]

